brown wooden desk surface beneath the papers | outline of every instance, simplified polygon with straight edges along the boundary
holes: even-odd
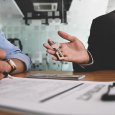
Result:
[[[36,73],[48,73],[48,74],[66,74],[66,75],[78,75],[84,74],[86,77],[83,79],[84,81],[115,81],[115,70],[103,70],[103,71],[94,71],[94,72],[69,72],[69,71],[31,71],[27,73],[21,73],[14,75],[16,77],[27,77],[31,74]],[[15,112],[6,112],[0,110],[0,115],[22,115]]]

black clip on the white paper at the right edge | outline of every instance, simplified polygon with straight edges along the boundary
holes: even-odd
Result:
[[[112,85],[108,86],[108,90],[105,94],[102,95],[101,100],[103,100],[103,101],[115,101],[115,94],[109,94],[113,87],[115,87],[115,82]]]

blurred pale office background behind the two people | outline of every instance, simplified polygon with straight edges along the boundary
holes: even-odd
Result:
[[[39,3],[40,0],[0,0],[0,29],[5,33],[6,38],[15,39],[15,45],[18,47],[20,47],[19,41],[21,42],[22,51],[32,59],[33,70],[72,71],[72,63],[52,61],[51,56],[46,54],[43,43],[48,38],[52,38],[56,42],[65,42],[57,35],[57,31],[62,30],[78,37],[87,48],[92,20],[110,12],[115,6],[115,0],[43,0],[46,3],[48,1],[57,2],[55,9],[47,9],[48,15],[54,18],[46,19],[44,16],[43,19],[24,20],[23,8],[20,9],[16,1]],[[67,11],[65,11],[65,4],[68,7]],[[55,18],[55,15],[60,15],[58,5],[62,5],[61,8],[63,8],[61,18]],[[29,6],[23,7],[28,8]],[[56,14],[52,14],[52,11]],[[27,13],[30,18],[32,15],[31,11]],[[40,15],[38,13],[38,16]]]

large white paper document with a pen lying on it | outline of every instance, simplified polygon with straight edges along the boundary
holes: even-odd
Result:
[[[0,80],[0,108],[34,115],[115,115],[101,96],[111,82],[30,78]]]

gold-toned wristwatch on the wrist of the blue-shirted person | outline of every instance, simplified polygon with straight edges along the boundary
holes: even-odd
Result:
[[[13,71],[16,70],[16,64],[14,63],[13,60],[8,59],[8,60],[6,60],[6,62],[8,62],[8,64],[11,66],[11,71],[9,71],[9,72],[4,71],[4,72],[3,72],[4,77],[7,77],[8,74],[11,74]]]

